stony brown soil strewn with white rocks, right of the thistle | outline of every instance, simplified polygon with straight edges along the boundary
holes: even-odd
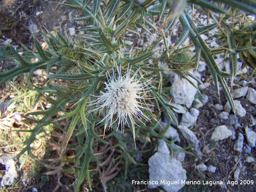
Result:
[[[204,71],[201,73],[203,74]],[[195,156],[176,151],[173,154],[176,160],[168,161],[170,151],[164,141],[161,141],[158,152],[148,161],[150,180],[159,181],[159,178],[167,181],[180,180],[177,189],[165,183],[161,185],[165,191],[178,191],[184,187],[181,180],[185,180],[186,173],[187,175],[189,173],[192,175],[188,180],[200,181],[201,184],[207,181],[219,181],[214,183],[215,188],[204,185],[205,190],[255,191],[256,92],[253,85],[255,85],[253,79],[250,81],[236,79],[232,94],[236,106],[236,115],[234,115],[222,94],[219,100],[212,83],[201,91],[202,95],[199,94],[197,97],[198,92],[191,84],[186,80],[179,81],[177,75],[173,75],[174,88],[171,90],[173,103],[170,104],[179,109],[174,110],[179,125],[172,124],[165,137],[168,139],[178,137],[175,144],[183,148],[194,145],[192,151]],[[193,89],[194,94],[191,93]],[[164,118],[161,124],[166,127],[168,118]],[[234,181],[239,184],[233,185]],[[250,184],[244,185],[240,184],[241,182],[250,182]],[[198,187],[196,185],[191,187],[196,189]],[[160,185],[149,187],[156,186]]]

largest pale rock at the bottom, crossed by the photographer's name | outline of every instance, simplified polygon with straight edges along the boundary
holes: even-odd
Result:
[[[162,186],[166,192],[178,192],[185,186],[185,184],[181,184],[181,180],[187,179],[186,170],[182,168],[180,161],[171,159],[169,154],[156,152],[149,158],[148,166],[149,180],[158,181],[157,185],[150,184],[148,185],[148,188],[152,189]],[[170,182],[179,181],[179,184],[172,183],[168,186],[167,184],[161,184],[161,180]]]

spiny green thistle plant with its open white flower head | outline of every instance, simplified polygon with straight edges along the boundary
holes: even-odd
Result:
[[[170,118],[170,124],[171,121],[178,124],[172,106],[165,100],[170,98],[171,87],[164,82],[162,72],[166,69],[160,67],[161,63],[181,78],[190,82],[189,78],[194,78],[202,83],[190,70],[196,69],[199,61],[204,60],[212,73],[209,81],[214,81],[218,94],[218,82],[220,83],[235,112],[234,102],[225,79],[231,78],[233,81],[236,77],[237,54],[240,55],[244,66],[255,69],[253,35],[255,21],[251,22],[244,13],[245,11],[256,14],[254,0],[69,0],[68,2],[58,5],[74,9],[72,14],[77,13],[79,17],[73,20],[83,20],[86,23],[79,29],[84,31],[84,35],[71,38],[61,31],[56,31],[56,35],[52,35],[47,30],[42,31],[49,48],[42,49],[34,38],[37,51],[32,52],[22,45],[24,54],[20,56],[10,46],[17,66],[0,74],[0,84],[5,85],[6,81],[14,76],[26,73],[31,82],[28,81],[26,86],[20,85],[28,90],[20,97],[33,94],[35,102],[44,98],[50,105],[49,109],[44,110],[43,107],[39,107],[37,111],[25,116],[27,121],[37,125],[29,130],[31,136],[23,142],[24,149],[18,156],[27,152],[26,157],[36,158],[30,145],[36,140],[37,134],[42,132],[46,134],[46,125],[52,124],[57,130],[65,133],[61,156],[67,156],[68,150],[75,151],[76,169],[61,168],[72,172],[76,178],[75,191],[80,190],[85,177],[91,186],[91,170],[89,170],[91,162],[104,164],[94,153],[93,147],[98,143],[101,143],[105,149],[113,138],[119,141],[110,148],[119,148],[125,152],[116,154],[114,159],[124,159],[125,173],[127,173],[127,165],[136,162],[130,155],[132,151],[126,146],[128,141],[120,136],[121,133],[126,132],[126,128],[132,130],[135,141],[141,137],[163,136],[154,131],[159,126],[162,112]],[[208,15],[214,22],[203,27],[197,26],[193,21],[196,10]],[[171,42],[171,36],[178,27],[178,22],[182,32],[175,42]],[[219,32],[216,36],[218,40],[222,40],[222,44],[217,49],[209,48],[200,36],[214,28],[218,28]],[[127,44],[127,33],[135,36],[136,38],[133,39],[140,40],[141,43],[138,46],[137,42],[134,42],[134,45]],[[141,33],[155,34],[153,43],[143,40]],[[183,46],[188,37],[191,40],[190,45]],[[241,38],[246,43],[240,41]],[[195,46],[195,53],[189,52],[191,45]],[[226,60],[229,60],[230,74],[221,71],[218,67],[214,59],[218,54],[223,54]],[[37,58],[38,61],[32,63],[30,61],[32,58]],[[33,72],[37,69],[46,71],[48,79],[43,84],[32,82]],[[38,115],[42,117],[36,119]],[[67,119],[67,129],[61,127],[60,122],[63,119]],[[120,124],[121,131],[118,129]],[[101,136],[106,134],[107,127],[109,132],[103,140]],[[113,130],[110,131],[110,128]],[[75,146],[69,143],[71,138],[76,139]],[[106,138],[110,141],[107,142]],[[172,145],[170,141],[166,140],[166,142]],[[106,183],[106,180],[102,183]]]

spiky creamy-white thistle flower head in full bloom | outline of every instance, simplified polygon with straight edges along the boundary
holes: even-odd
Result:
[[[144,96],[148,91],[147,86],[151,84],[149,80],[147,82],[140,83],[140,79],[136,78],[139,70],[135,72],[135,74],[131,77],[132,68],[127,69],[127,74],[122,76],[121,74],[121,66],[120,69],[117,68],[118,77],[116,78],[116,73],[113,69],[113,75],[106,73],[108,82],[104,82],[106,85],[105,92],[100,91],[102,95],[95,96],[98,97],[97,100],[92,101],[94,103],[91,105],[98,105],[95,109],[92,109],[88,112],[96,111],[100,109],[102,111],[105,107],[107,108],[107,115],[98,123],[100,124],[104,120],[110,120],[110,125],[108,126],[108,130],[112,124],[114,124],[118,120],[118,126],[121,124],[122,133],[124,132],[124,124],[127,122],[127,117],[130,119],[132,124],[136,124],[133,116],[137,119],[146,119],[149,120],[147,116],[144,115],[142,109],[150,110],[148,107],[143,107],[141,103],[141,99],[145,99]],[[147,104],[147,106],[149,106]],[[114,115],[117,114],[116,120],[114,120]],[[141,120],[140,120],[141,121]],[[142,121],[141,121],[142,122]],[[142,122],[143,123],[143,122]],[[137,124],[136,124],[137,125]],[[128,124],[130,127],[130,125]],[[105,125],[106,129],[106,125]],[[134,130],[133,134],[134,134]],[[104,131],[105,132],[105,131]],[[134,136],[134,135],[133,135]]]

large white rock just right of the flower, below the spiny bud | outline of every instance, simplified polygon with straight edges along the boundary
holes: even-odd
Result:
[[[196,80],[192,78],[190,78],[190,80],[197,86]],[[179,79],[177,74],[172,78],[172,87],[170,93],[173,101],[190,108],[195,99],[197,89],[186,79]]]

